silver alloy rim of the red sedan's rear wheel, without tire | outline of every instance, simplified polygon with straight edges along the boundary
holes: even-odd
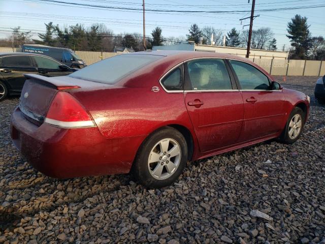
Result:
[[[163,180],[171,177],[181,161],[181,147],[171,138],[162,139],[151,149],[148,169],[152,177]]]

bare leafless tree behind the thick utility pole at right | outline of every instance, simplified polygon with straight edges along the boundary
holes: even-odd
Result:
[[[248,29],[242,32],[240,36],[242,46],[247,47],[248,43]],[[267,44],[273,39],[273,32],[271,28],[258,28],[252,31],[251,48],[253,49],[266,49]]]

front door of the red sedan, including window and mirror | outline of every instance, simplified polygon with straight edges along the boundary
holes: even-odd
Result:
[[[229,60],[244,101],[244,123],[240,142],[283,130],[285,98],[282,90],[270,90],[269,78],[248,63]]]

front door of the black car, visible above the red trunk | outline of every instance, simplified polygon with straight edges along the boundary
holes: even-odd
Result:
[[[36,67],[40,75],[52,77],[52,76],[64,76],[72,73],[70,70],[60,69],[60,63],[56,60],[43,56],[32,56],[35,60]]]

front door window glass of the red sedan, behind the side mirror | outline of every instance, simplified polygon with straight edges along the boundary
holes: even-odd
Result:
[[[255,67],[236,60],[229,60],[243,90],[269,90],[268,77]]]

